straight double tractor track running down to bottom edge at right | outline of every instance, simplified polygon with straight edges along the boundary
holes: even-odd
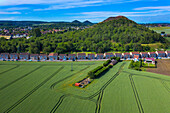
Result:
[[[139,113],[144,113],[144,110],[143,110],[143,107],[142,107],[142,103],[140,101],[139,94],[137,92],[137,89],[136,89],[136,86],[135,86],[135,82],[134,82],[132,76],[133,75],[129,75],[129,79],[130,79],[130,83],[131,83],[131,86],[132,86],[132,89],[133,89],[133,93],[134,93],[134,96],[135,96],[136,103],[138,105]]]

